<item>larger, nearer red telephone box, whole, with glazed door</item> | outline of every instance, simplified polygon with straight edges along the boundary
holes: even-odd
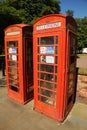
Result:
[[[51,14],[34,23],[34,109],[63,121],[75,102],[77,25]]]

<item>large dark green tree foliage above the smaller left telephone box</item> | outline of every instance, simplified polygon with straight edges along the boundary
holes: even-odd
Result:
[[[0,2],[0,53],[3,30],[15,23],[32,24],[37,18],[60,12],[59,0],[1,0]]]

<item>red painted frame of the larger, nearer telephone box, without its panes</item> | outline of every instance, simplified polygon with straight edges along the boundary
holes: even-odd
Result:
[[[50,28],[39,28],[39,26],[44,26],[46,24],[61,22],[59,27]],[[41,112],[55,120],[63,121],[69,111],[71,110],[74,101],[68,103],[68,79],[69,79],[69,56],[70,56],[70,41],[69,41],[69,31],[76,36],[77,25],[75,20],[70,16],[65,16],[61,14],[51,14],[41,17],[34,23],[33,30],[33,59],[34,59],[34,109]],[[57,90],[56,90],[56,107],[45,104],[38,100],[38,47],[37,39],[45,36],[58,36],[58,73],[57,73]],[[76,36],[77,37],[77,36]],[[55,55],[55,54],[54,54]],[[76,59],[75,59],[76,60]],[[76,62],[76,61],[75,61]],[[55,65],[55,64],[54,64]],[[75,64],[76,65],[76,64]],[[76,71],[76,67],[75,67]],[[76,73],[74,75],[76,77]],[[45,81],[44,81],[45,82]],[[75,87],[75,86],[74,86]],[[75,97],[75,92],[73,92],[73,97]]]

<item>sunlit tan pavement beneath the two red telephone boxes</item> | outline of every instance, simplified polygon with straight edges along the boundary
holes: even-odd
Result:
[[[0,130],[87,130],[87,105],[76,102],[63,123],[33,110],[34,101],[19,104],[0,88]]]

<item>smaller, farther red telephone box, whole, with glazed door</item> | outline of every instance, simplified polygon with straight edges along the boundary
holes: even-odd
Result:
[[[27,24],[5,29],[8,96],[23,104],[33,98],[32,31]]]

